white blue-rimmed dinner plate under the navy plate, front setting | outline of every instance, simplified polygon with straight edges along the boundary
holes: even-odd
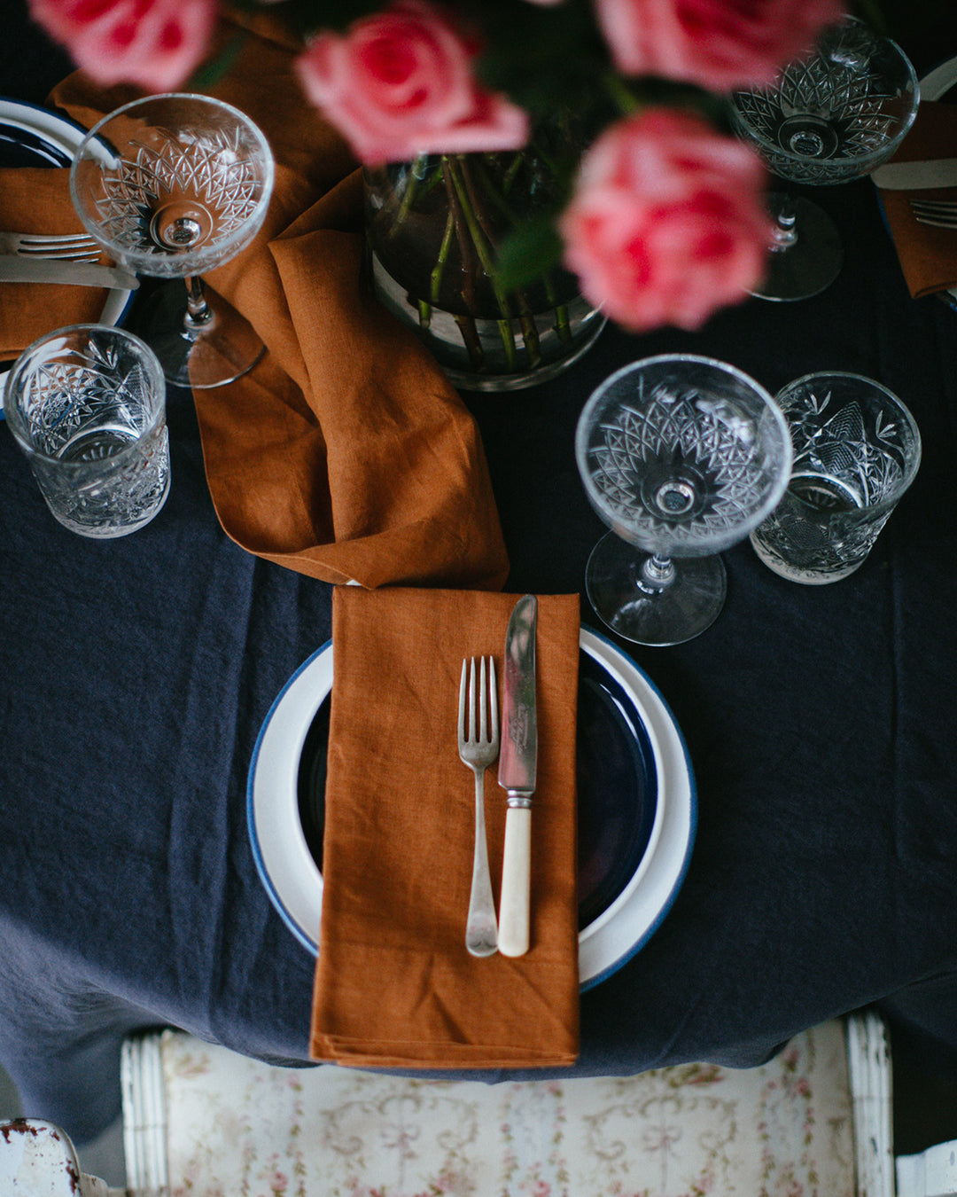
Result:
[[[611,976],[660,926],[681,888],[696,826],[694,774],[684,739],[658,689],[634,661],[589,628],[580,637],[583,675],[603,679],[605,698],[622,717],[626,755],[634,784],[644,794],[635,819],[636,849],[628,876],[579,934],[581,989]],[[249,771],[246,816],[256,868],[278,913],[295,938],[318,953],[322,873],[310,849],[300,814],[304,748],[317,712],[328,709],[333,688],[333,646],[324,644],[289,679],[260,730]],[[630,748],[632,731],[635,729]],[[315,734],[315,733],[313,733]],[[601,755],[601,754],[599,754]],[[580,783],[579,783],[580,788]],[[620,795],[610,798],[618,813]],[[626,812],[627,813],[627,812]],[[315,849],[315,843],[313,843]]]

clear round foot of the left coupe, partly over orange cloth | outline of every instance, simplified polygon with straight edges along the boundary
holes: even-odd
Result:
[[[205,296],[212,320],[199,332],[185,326],[187,288],[182,279],[157,287],[138,321],[135,332],[159,358],[172,387],[225,387],[248,373],[266,353],[244,316],[209,287]]]

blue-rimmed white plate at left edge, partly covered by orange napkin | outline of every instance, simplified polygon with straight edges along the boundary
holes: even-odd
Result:
[[[68,166],[85,136],[83,126],[59,113],[0,96],[0,165]],[[132,303],[132,291],[111,290],[103,305],[100,322],[121,324]],[[11,365],[10,361],[0,363],[0,420],[4,418],[4,387]]]

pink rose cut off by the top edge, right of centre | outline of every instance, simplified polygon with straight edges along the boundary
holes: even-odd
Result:
[[[712,91],[769,84],[842,0],[595,0],[617,67]]]

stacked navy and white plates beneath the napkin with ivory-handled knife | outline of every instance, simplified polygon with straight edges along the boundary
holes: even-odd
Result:
[[[597,985],[654,934],[694,841],[695,785],[681,730],[646,674],[583,628],[578,695],[579,976]],[[260,877],[295,938],[318,953],[333,645],[269,711],[246,813]]]

